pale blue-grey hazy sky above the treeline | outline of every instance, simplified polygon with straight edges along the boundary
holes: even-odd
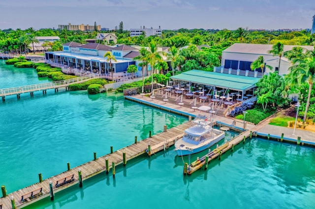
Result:
[[[314,0],[0,0],[0,29],[93,25],[124,30],[311,28]]]

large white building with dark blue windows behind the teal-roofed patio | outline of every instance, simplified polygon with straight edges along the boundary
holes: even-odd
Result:
[[[233,70],[252,71],[252,62],[255,61],[258,56],[262,55],[266,64],[273,67],[272,71],[268,68],[264,69],[264,73],[279,71],[279,75],[288,74],[288,68],[291,66],[290,61],[282,56],[279,69],[279,56],[273,56],[273,54],[268,53],[268,51],[272,50],[272,46],[271,44],[233,44],[222,51],[221,66]],[[296,46],[284,45],[284,52],[292,50],[293,47]],[[314,46],[301,47],[314,50]],[[261,69],[256,69],[256,71],[261,72]]]

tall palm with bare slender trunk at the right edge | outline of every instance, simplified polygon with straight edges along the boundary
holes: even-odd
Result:
[[[314,50],[315,51],[315,50]],[[293,66],[289,67],[290,77],[293,84],[302,84],[307,82],[309,84],[309,92],[305,106],[305,113],[303,117],[303,124],[306,120],[307,110],[310,106],[311,91],[315,82],[315,55],[314,51],[306,51],[304,58],[293,58]],[[303,57],[302,56],[302,57]]]

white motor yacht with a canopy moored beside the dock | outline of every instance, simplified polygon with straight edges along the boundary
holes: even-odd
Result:
[[[224,131],[213,129],[214,122],[210,116],[199,114],[192,123],[193,126],[185,130],[183,138],[175,142],[179,156],[201,152],[224,138]]]

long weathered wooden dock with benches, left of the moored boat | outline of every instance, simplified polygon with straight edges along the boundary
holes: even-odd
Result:
[[[82,180],[86,180],[88,178],[91,178],[101,172],[106,171],[106,165],[105,165],[105,159],[108,158],[109,161],[109,169],[112,167],[112,162],[115,162],[115,166],[119,164],[123,164],[123,153],[126,153],[126,160],[130,160],[134,157],[140,156],[144,153],[146,153],[146,150],[148,151],[148,144],[150,143],[151,146],[151,152],[149,151],[149,155],[154,154],[155,152],[158,152],[159,150],[163,150],[164,148],[167,148],[175,143],[176,140],[181,138],[183,136],[183,133],[185,129],[190,127],[190,123],[184,123],[182,125],[179,125],[177,127],[171,128],[169,130],[160,132],[156,135],[153,135],[152,137],[146,138],[144,140],[141,140],[137,143],[134,143],[132,145],[129,145],[125,148],[122,148],[120,150],[117,150],[111,154],[102,156],[97,158],[96,160],[89,161],[87,163],[84,163],[82,165],[79,165],[77,167],[74,167],[70,169],[69,171],[65,171],[61,174],[58,174],[56,176],[53,176],[51,178],[43,180],[41,183],[34,183],[30,186],[27,186],[23,189],[20,189],[18,191],[12,192],[8,194],[4,198],[0,198],[0,205],[3,204],[2,209],[11,209],[11,196],[13,196],[16,207],[17,208],[23,208],[26,207],[36,201],[39,201],[43,198],[50,196],[50,181],[53,183],[53,190],[54,193],[60,192],[63,189],[73,186],[74,184],[78,184],[78,170],[81,169],[82,174]],[[65,178],[69,175],[74,175],[74,181],[71,183],[67,183],[63,186],[56,187],[55,184],[57,180],[60,180],[62,178]],[[84,186],[84,185],[83,185]],[[38,188],[42,187],[42,195],[40,195],[37,198],[34,198],[32,200],[27,199],[27,202],[22,203],[21,202],[21,196],[32,192],[33,190],[36,190]],[[79,187],[79,185],[78,185]]]

